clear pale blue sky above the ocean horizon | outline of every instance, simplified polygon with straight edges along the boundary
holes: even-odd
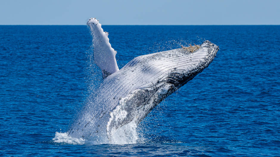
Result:
[[[280,0],[0,0],[0,25],[279,25]]]

